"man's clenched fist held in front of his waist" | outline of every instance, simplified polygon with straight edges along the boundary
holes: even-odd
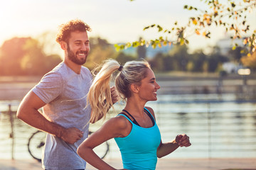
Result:
[[[83,132],[77,128],[68,128],[60,134],[60,138],[69,144],[74,144],[80,140],[83,136]]]

